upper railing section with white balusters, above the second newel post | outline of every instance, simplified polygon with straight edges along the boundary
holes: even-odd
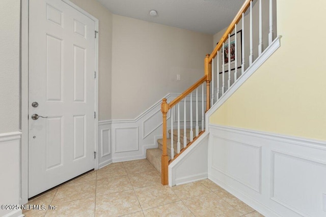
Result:
[[[275,2],[276,0],[246,0],[210,54],[211,105],[224,95],[273,42]]]

